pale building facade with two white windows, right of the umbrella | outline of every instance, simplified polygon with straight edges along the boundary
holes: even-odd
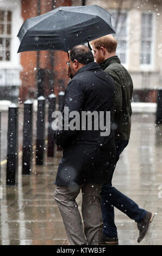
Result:
[[[130,72],[134,101],[155,102],[162,87],[162,1],[86,0],[112,15],[117,55]]]

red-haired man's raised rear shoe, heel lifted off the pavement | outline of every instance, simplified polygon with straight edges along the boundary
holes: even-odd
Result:
[[[154,214],[152,214],[152,212],[147,211],[146,212],[146,216],[142,221],[139,221],[137,223],[137,227],[140,231],[139,233],[139,237],[138,237],[138,243],[142,241],[142,239],[145,237],[147,230],[149,228],[149,224],[152,222],[154,217]]]

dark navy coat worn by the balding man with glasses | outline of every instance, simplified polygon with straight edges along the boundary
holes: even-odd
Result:
[[[110,111],[111,123],[114,116],[115,84],[97,63],[89,63],[80,68],[65,90],[62,107],[69,111]],[[72,119],[70,119],[72,120]],[[81,123],[81,122],[80,122]],[[92,124],[94,119],[92,120]],[[93,125],[92,125],[93,127]],[[87,127],[86,127],[87,128]],[[114,132],[101,136],[101,130],[57,130],[55,143],[63,148],[55,184],[72,186],[76,184],[108,183],[115,156]]]

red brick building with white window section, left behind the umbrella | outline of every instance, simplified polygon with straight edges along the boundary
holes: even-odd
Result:
[[[65,89],[67,53],[63,51],[33,51],[17,54],[20,42],[17,33],[22,23],[59,6],[80,5],[73,0],[2,0],[0,2],[0,100],[20,101],[40,94],[58,94]]]

